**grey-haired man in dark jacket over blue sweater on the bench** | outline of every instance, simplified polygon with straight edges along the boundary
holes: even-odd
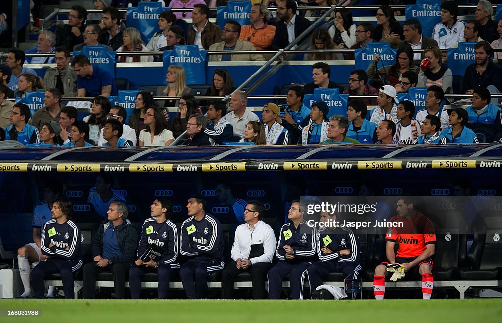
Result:
[[[138,247],[138,233],[127,220],[129,206],[122,201],[112,201],[108,221],[99,226],[92,238],[92,262],[84,266],[83,298],[95,297],[96,276],[101,271],[111,271],[115,298],[124,298],[126,273],[131,268]]]

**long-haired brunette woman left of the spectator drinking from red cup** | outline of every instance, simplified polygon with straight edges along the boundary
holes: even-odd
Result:
[[[375,69],[378,73],[386,73],[394,76],[398,80],[401,79],[403,73],[408,71],[413,71],[415,74],[420,72],[420,68],[415,66],[413,61],[413,49],[410,46],[404,46],[398,49],[396,53],[396,63],[392,65],[387,65],[385,68],[379,68],[381,57],[379,54],[375,54],[373,57],[373,62],[368,65],[366,69],[367,77],[370,78]]]

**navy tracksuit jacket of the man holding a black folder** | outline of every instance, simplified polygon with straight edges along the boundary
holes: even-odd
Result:
[[[148,247],[156,244],[166,251],[157,261],[159,266],[170,265],[171,268],[179,268],[176,263],[179,250],[178,228],[169,219],[157,223],[156,218],[148,218],[141,227],[140,242],[138,246],[138,257],[140,257]]]

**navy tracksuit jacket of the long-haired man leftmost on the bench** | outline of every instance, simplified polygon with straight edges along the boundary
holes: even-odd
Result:
[[[73,221],[67,220],[59,224],[56,219],[51,219],[45,223],[42,232],[42,253],[51,259],[79,261],[82,259],[81,240],[80,228]],[[50,243],[53,246],[49,248]]]

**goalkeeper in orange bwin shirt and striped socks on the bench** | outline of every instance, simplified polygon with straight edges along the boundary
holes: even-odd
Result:
[[[384,299],[385,276],[388,275],[387,265],[404,265],[406,277],[422,276],[422,297],[431,299],[434,279],[432,277],[433,261],[431,257],[436,249],[436,234],[429,218],[415,211],[414,201],[410,197],[400,197],[396,204],[398,215],[389,220],[396,221],[402,227],[392,227],[387,231],[385,240],[386,254],[389,262],[376,266],[373,276],[373,293],[375,299]],[[399,244],[396,255],[394,245]],[[417,270],[418,269],[418,270]],[[411,270],[411,272],[409,272]]]

